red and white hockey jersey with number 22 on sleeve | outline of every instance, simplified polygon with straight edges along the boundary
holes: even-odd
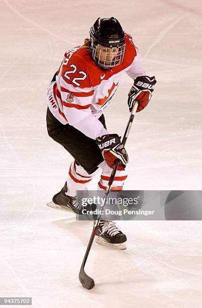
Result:
[[[129,34],[125,33],[125,41],[124,60],[112,69],[98,66],[84,45],[64,54],[56,82],[47,93],[48,107],[62,124],[70,124],[92,139],[109,133],[98,118],[115,94],[122,72],[132,79],[145,75]]]

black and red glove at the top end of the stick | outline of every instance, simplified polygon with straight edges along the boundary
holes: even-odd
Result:
[[[156,84],[155,76],[139,76],[134,80],[134,85],[128,94],[128,106],[132,111],[134,100],[139,102],[137,112],[143,110],[149,103],[154,86]]]

